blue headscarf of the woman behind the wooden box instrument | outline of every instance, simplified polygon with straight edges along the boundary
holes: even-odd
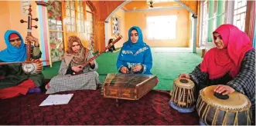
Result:
[[[131,42],[131,31],[136,30],[138,32],[138,41],[136,43]],[[133,26],[128,31],[128,41],[124,43],[124,47],[133,48],[135,51],[137,51],[139,48],[142,48],[145,46],[145,43],[143,41],[143,35],[141,28],[138,28],[138,26]]]

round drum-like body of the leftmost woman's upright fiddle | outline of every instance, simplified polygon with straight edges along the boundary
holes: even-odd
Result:
[[[43,70],[43,63],[39,59],[31,59],[31,63],[23,63],[22,70],[26,74],[39,74]]]

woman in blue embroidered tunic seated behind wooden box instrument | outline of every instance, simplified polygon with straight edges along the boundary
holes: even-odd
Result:
[[[137,26],[128,31],[128,41],[124,43],[118,55],[117,68],[123,74],[152,75],[152,53],[143,41],[142,30]]]

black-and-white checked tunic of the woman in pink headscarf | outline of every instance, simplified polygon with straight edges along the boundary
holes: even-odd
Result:
[[[208,74],[200,70],[200,65],[196,66],[190,74],[191,79],[196,84],[196,98],[200,89],[210,85],[227,84],[236,91],[247,95],[251,101],[251,109],[255,112],[255,50],[247,51],[241,62],[241,70],[236,78],[232,79],[227,73],[221,78],[209,80]],[[255,113],[254,113],[255,114]]]

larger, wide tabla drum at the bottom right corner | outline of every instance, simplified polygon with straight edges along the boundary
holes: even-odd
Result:
[[[200,120],[210,125],[251,124],[251,101],[239,92],[222,95],[214,92],[216,85],[200,90],[196,110]]]

